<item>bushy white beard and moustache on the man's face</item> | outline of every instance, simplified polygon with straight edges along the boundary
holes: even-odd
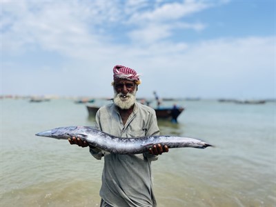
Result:
[[[136,101],[136,90],[132,93],[128,92],[125,96],[119,92],[114,93],[114,103],[116,106],[118,106],[121,109],[129,109],[133,106],[133,104]]]

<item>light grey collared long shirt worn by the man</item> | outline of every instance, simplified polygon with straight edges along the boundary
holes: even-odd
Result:
[[[103,132],[119,137],[143,137],[159,135],[155,110],[135,103],[126,124],[123,124],[117,107],[110,103],[101,107],[96,115],[96,127]],[[101,159],[104,155],[100,196],[112,206],[156,206],[152,192],[150,162],[157,156],[117,155],[90,148],[90,153]]]

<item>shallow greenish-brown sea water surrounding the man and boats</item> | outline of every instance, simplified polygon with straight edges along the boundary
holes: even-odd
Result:
[[[103,160],[66,140],[34,135],[94,126],[86,105],[71,99],[0,103],[0,206],[99,206]],[[276,206],[275,102],[173,103],[186,109],[178,124],[159,120],[161,134],[203,139],[215,148],[170,149],[152,162],[158,206]]]

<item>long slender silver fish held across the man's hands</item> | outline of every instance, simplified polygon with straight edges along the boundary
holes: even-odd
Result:
[[[168,146],[168,148],[206,148],[212,146],[199,139],[174,136],[149,136],[122,138],[101,132],[89,126],[59,127],[36,134],[41,137],[52,137],[55,139],[68,139],[71,137],[86,141],[90,146],[95,146],[117,154],[140,154],[148,152],[148,148],[155,144]]]

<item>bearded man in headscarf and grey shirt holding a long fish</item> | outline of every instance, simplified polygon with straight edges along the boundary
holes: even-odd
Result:
[[[136,92],[141,83],[137,72],[125,66],[113,68],[114,101],[101,107],[96,115],[96,127],[119,137],[159,135],[155,110],[136,102]],[[85,141],[72,137],[70,144],[88,146]],[[140,155],[117,155],[90,146],[96,159],[104,156],[101,207],[106,206],[156,206],[152,192],[151,161],[168,152],[167,146],[152,146]]]

